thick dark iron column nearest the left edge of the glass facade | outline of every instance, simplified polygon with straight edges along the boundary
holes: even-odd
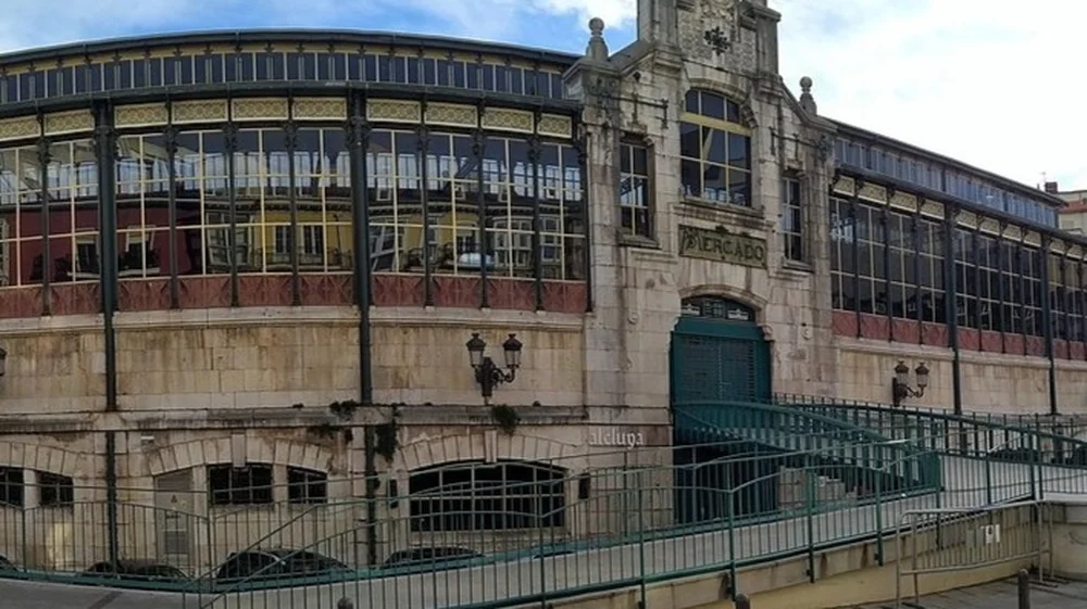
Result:
[[[102,241],[100,290],[102,293],[102,325],[105,346],[105,410],[117,409],[117,343],[113,315],[117,310],[117,195],[116,195],[116,136],[110,107],[96,107],[95,151],[98,156],[98,208]]]

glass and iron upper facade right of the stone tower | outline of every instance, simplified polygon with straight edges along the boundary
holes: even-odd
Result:
[[[836,333],[1087,359],[1087,242],[1053,227],[1060,201],[844,130],[828,217]]]

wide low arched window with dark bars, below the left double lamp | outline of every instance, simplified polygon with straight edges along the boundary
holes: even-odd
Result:
[[[443,464],[412,472],[412,531],[562,526],[565,470],[542,464]]]

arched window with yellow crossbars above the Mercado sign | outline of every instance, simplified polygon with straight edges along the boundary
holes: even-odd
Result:
[[[751,129],[740,105],[709,91],[687,92],[679,156],[684,194],[711,203],[751,206]]]

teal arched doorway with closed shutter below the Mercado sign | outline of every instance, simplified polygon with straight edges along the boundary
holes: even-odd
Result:
[[[672,404],[762,402],[771,394],[770,345],[754,310],[721,296],[684,299],[672,331]]]

